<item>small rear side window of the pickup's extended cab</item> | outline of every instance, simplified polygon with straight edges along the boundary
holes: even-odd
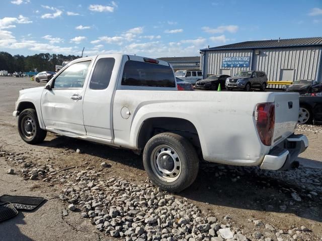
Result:
[[[91,89],[106,89],[109,86],[114,63],[114,58],[102,58],[97,61],[90,82]]]

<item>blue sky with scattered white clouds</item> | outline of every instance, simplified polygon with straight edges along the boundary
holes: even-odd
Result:
[[[230,43],[322,36],[322,1],[2,0],[0,51],[198,56]]]

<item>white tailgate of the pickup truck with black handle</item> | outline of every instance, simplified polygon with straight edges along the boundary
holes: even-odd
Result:
[[[298,93],[276,93],[275,127],[272,146],[294,133],[299,112]]]

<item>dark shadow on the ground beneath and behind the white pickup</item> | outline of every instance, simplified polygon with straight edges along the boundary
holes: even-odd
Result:
[[[135,155],[130,150],[114,149],[61,136],[45,141],[40,146],[64,149],[72,153],[79,148],[83,154],[144,170],[142,156]],[[303,179],[308,182],[303,183]],[[261,170],[258,167],[202,163],[196,181],[178,195],[201,202],[201,205],[209,203],[219,207],[293,213],[322,222],[321,183],[322,169],[300,166],[296,170],[277,172]],[[307,196],[310,191],[315,191],[318,195]],[[291,196],[293,192],[299,194],[302,200],[295,201]]]

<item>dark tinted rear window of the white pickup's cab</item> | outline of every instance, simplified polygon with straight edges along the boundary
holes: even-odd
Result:
[[[124,65],[122,85],[176,87],[172,68],[160,64],[129,60]]]

